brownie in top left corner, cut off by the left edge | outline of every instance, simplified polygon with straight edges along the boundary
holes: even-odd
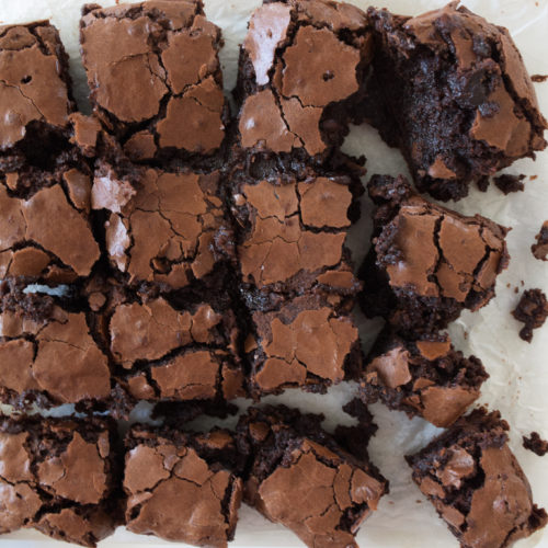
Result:
[[[62,156],[76,110],[70,84],[48,21],[0,26],[0,174],[52,167]]]

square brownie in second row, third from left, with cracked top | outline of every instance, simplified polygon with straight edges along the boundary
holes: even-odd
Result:
[[[230,178],[243,290],[253,300],[318,289],[355,295],[345,239],[355,218],[359,180],[347,174],[298,176],[284,169],[264,178],[246,167]]]

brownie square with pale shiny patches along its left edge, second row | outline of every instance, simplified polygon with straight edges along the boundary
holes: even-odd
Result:
[[[125,273],[130,285],[147,282],[164,290],[219,282],[220,263],[233,261],[220,181],[219,171],[127,173],[100,160],[91,205],[104,212],[112,267]]]

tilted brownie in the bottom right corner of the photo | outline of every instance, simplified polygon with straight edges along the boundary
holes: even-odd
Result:
[[[507,430],[498,411],[480,408],[406,457],[414,482],[464,548],[510,546],[548,521],[533,504]]]

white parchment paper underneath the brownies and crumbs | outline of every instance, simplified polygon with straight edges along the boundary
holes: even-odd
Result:
[[[83,3],[82,0],[0,0],[0,21],[15,23],[52,20],[60,30],[69,52],[77,82],[76,93],[80,106],[85,109],[87,87],[78,55],[78,20]],[[114,3],[114,0],[102,2],[103,5]],[[238,44],[243,39],[249,14],[260,3],[261,0],[205,0],[207,15],[221,26],[226,41],[222,65],[227,91],[236,81]],[[353,3],[361,8],[369,5],[367,0],[353,0]],[[381,5],[412,15],[444,3],[444,0],[383,0]],[[548,73],[548,0],[465,0],[463,3],[489,21],[510,28],[530,73]],[[548,115],[548,81],[535,87],[540,107]],[[353,128],[346,139],[345,150],[366,155],[368,175],[365,181],[374,173],[397,175],[408,172],[401,155],[384,145],[370,127]],[[529,249],[543,221],[548,219],[548,151],[539,153],[536,161],[522,160],[505,171],[527,175],[525,192],[504,196],[492,186],[487,193],[472,190],[466,199],[448,204],[464,214],[480,213],[512,227],[507,238],[512,260],[507,271],[499,277],[496,297],[479,312],[465,312],[449,331],[459,350],[473,353],[483,361],[491,377],[484,385],[481,402],[491,409],[500,409],[510,422],[511,446],[530,480],[534,499],[537,504],[548,506],[548,456],[539,458],[522,447],[522,435],[532,431],[538,431],[543,437],[548,437],[548,323],[536,330],[533,342],[527,344],[518,338],[521,324],[510,313],[524,288],[540,287],[548,293],[548,263],[534,259]],[[369,213],[370,205],[364,197],[362,220],[350,236],[356,264],[359,264],[367,251]],[[367,350],[380,323],[366,321],[362,316],[359,319]],[[323,412],[329,427],[336,423],[352,423],[342,413],[341,407],[352,399],[354,390],[353,384],[334,387],[327,396],[288,390],[279,397],[269,397],[265,401],[278,401],[311,412]],[[421,419],[409,421],[403,413],[388,411],[380,404],[373,406],[372,411],[379,431],[372,441],[369,453],[390,480],[390,494],[381,500],[378,511],[362,526],[357,535],[359,546],[458,546],[431,504],[412,483],[403,460],[404,454],[425,445],[437,430]],[[242,506],[240,516],[233,547],[302,546],[293,533],[271,524],[246,505]],[[64,546],[28,530],[2,536],[0,545],[14,548]],[[138,545],[169,546],[170,543],[133,535],[123,527],[101,543],[104,548],[129,548]],[[539,532],[518,546],[548,547],[548,532]]]

